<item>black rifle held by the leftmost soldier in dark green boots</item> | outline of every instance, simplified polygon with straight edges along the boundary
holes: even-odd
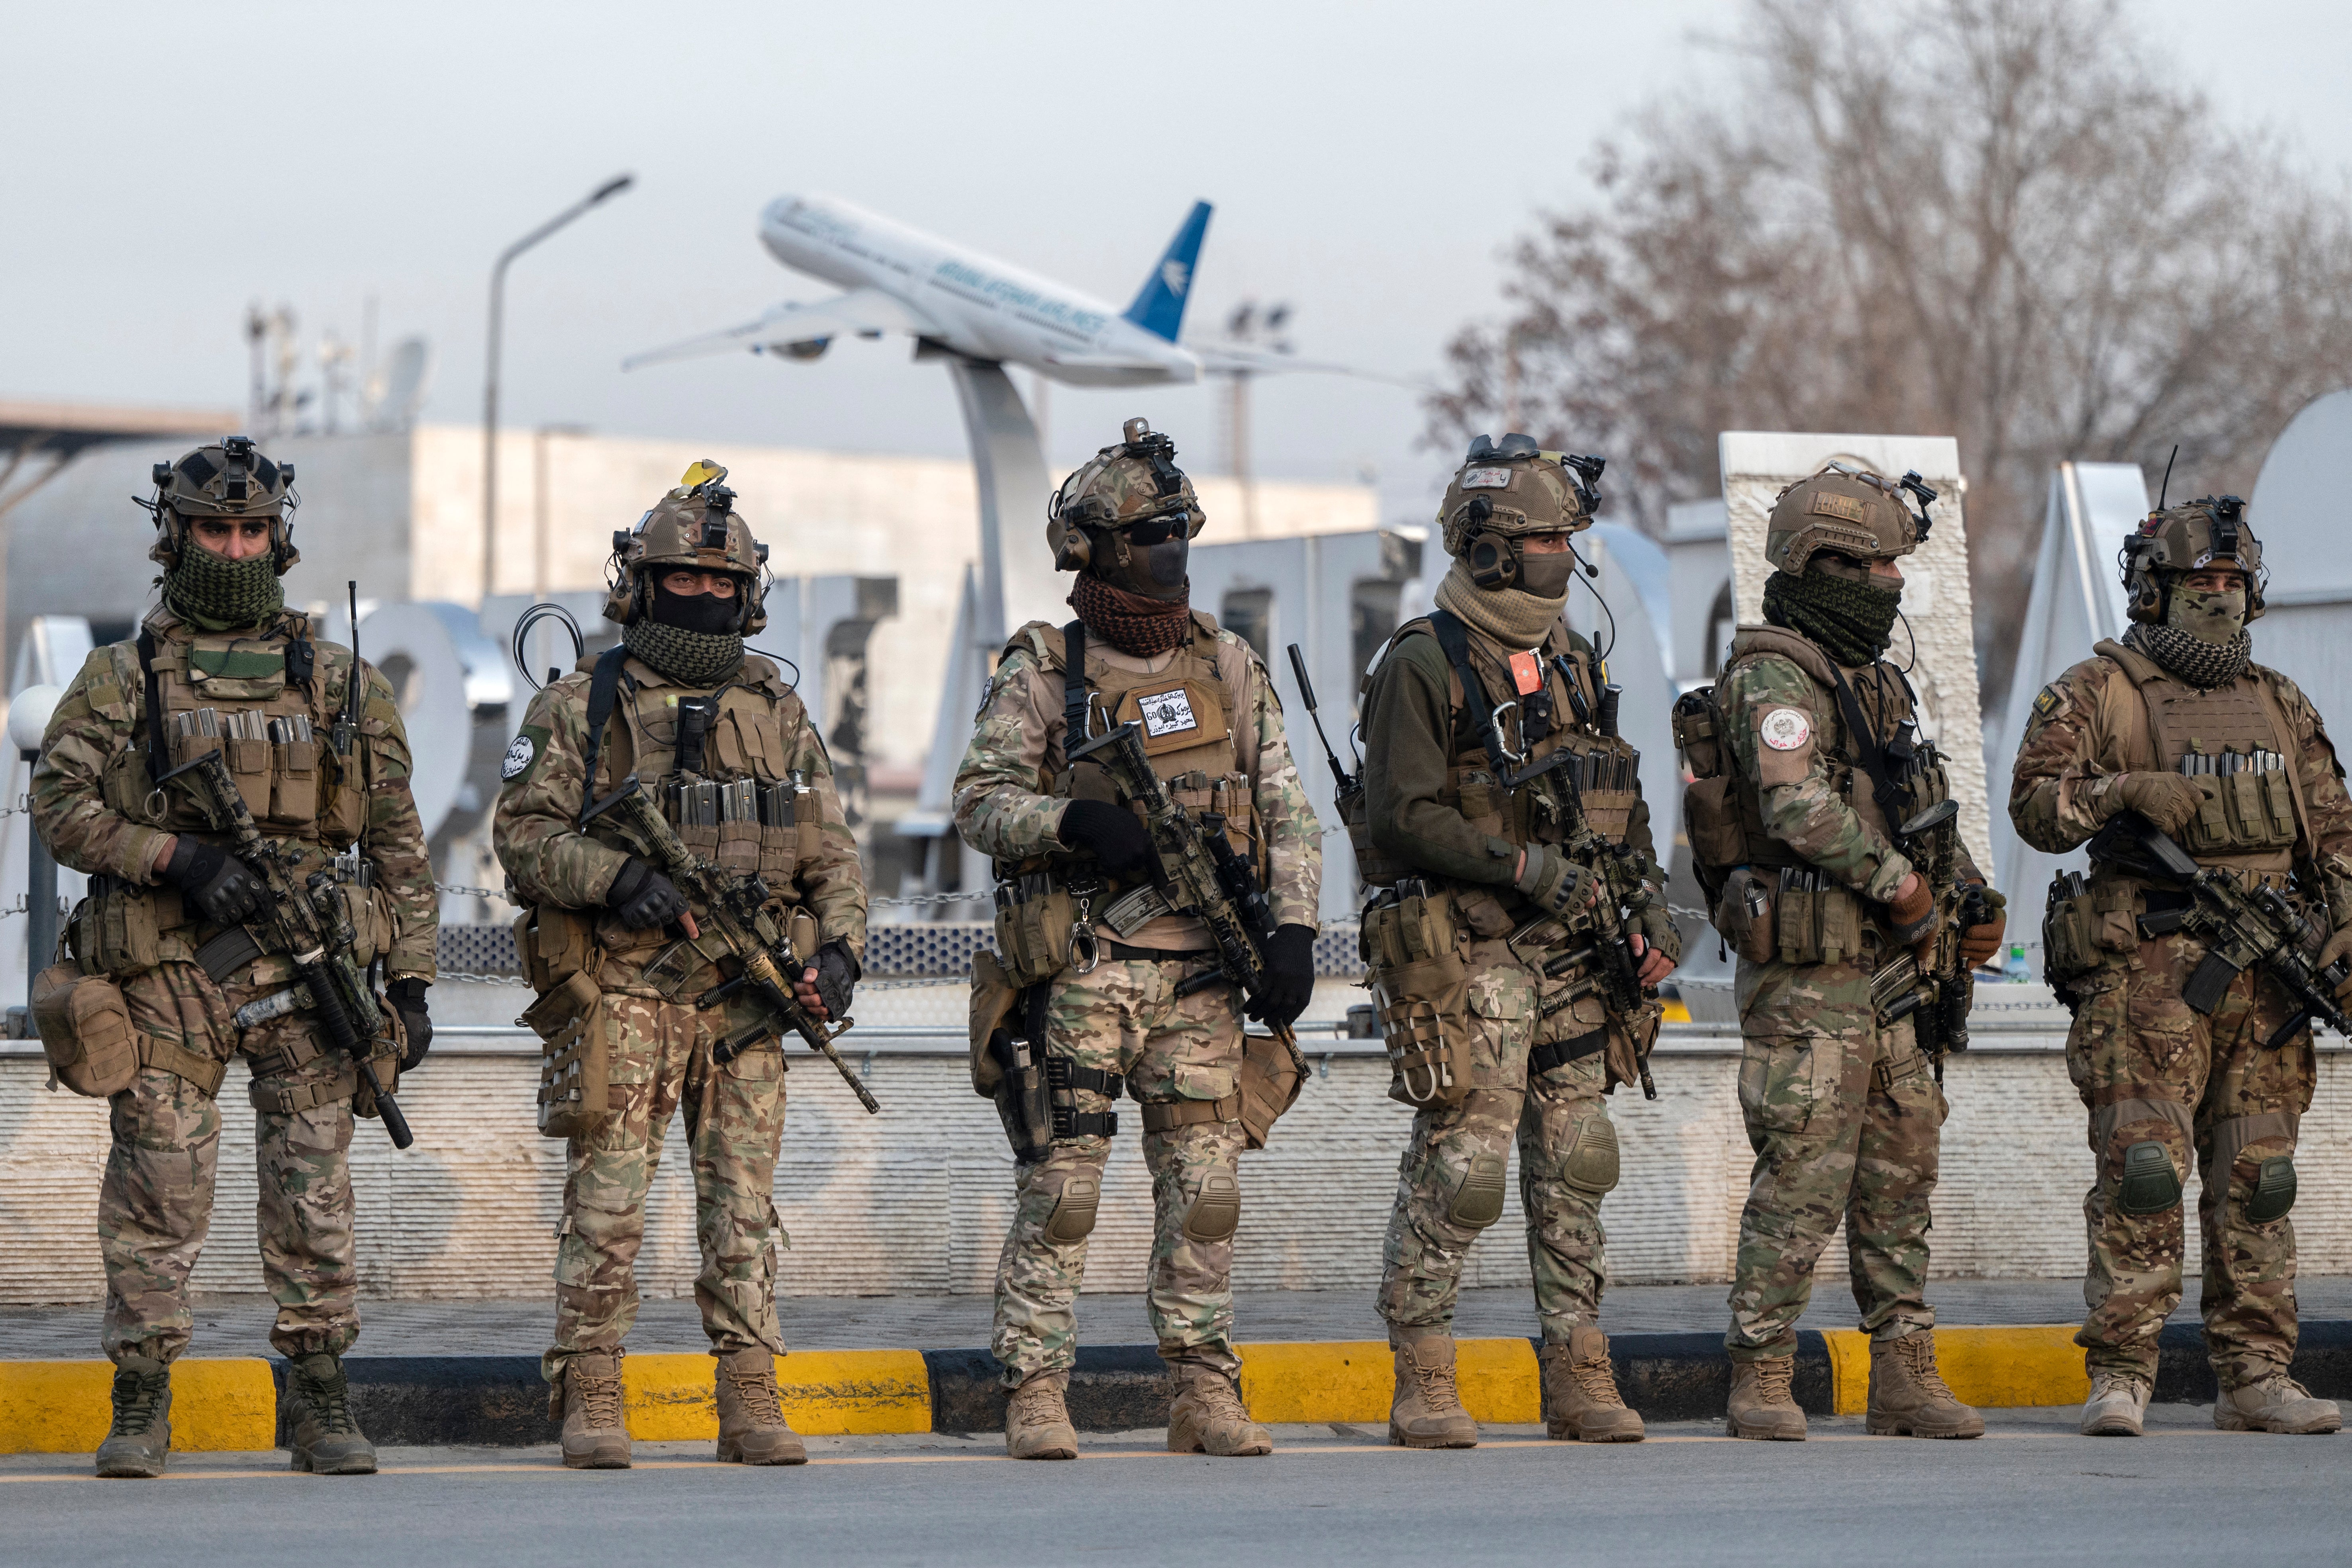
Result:
[[[353,684],[360,682],[358,663],[353,663],[350,679]],[[179,764],[158,778],[155,788],[181,776],[188,778],[188,790],[214,827],[228,832],[233,842],[230,853],[268,891],[261,914],[245,922],[245,931],[249,936],[259,933],[261,952],[292,959],[294,973],[301,980],[275,997],[240,1009],[238,1020],[247,1023],[249,1013],[275,1018],[278,1013],[299,1009],[318,1013],[318,1023],[327,1032],[327,1044],[350,1058],[350,1065],[360,1072],[360,1084],[376,1098],[376,1114],[383,1117],[383,1131],[390,1133],[393,1147],[409,1147],[416,1143],[416,1135],[409,1133],[409,1119],[400,1114],[393,1093],[376,1079],[372,1058],[376,1041],[390,1039],[390,1027],[376,1006],[374,990],[369,990],[360,976],[360,966],[350,957],[358,933],[350,926],[350,905],[336,886],[334,872],[315,870],[303,879],[301,889],[294,886],[294,851],[261,837],[254,813],[245,806],[245,792],[238,790],[238,778],[228,771],[221,752],[202,752]]]

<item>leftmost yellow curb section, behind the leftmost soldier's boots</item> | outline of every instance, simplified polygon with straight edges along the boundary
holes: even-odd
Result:
[[[96,1453],[113,1425],[111,1361],[0,1361],[0,1453]],[[172,1363],[172,1448],[278,1446],[278,1387],[254,1356]]]

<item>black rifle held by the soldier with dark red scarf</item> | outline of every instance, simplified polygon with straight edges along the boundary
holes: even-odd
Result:
[[[1134,931],[1160,914],[1190,914],[1216,943],[1216,969],[1192,976],[1176,987],[1176,994],[1188,997],[1218,983],[1237,985],[1244,997],[1263,992],[1265,943],[1275,938],[1275,910],[1249,865],[1232,853],[1225,818],[1204,811],[1195,820],[1176,804],[1152,771],[1152,759],[1143,750],[1143,726],[1134,719],[1073,745],[1068,757],[1073,764],[1094,762],[1108,771],[1127,799],[1143,806],[1152,835],[1152,882],[1112,900],[1103,919],[1115,931]],[[1268,1027],[1303,1070],[1291,1025]]]

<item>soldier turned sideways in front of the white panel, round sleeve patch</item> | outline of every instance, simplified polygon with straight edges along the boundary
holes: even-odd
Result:
[[[1980,1436],[1983,1418],[1936,1371],[1926,1305],[1929,1197],[1945,1117],[1940,1063],[1915,1018],[1882,1023],[1872,976],[1938,938],[1940,898],[1893,844],[1893,825],[1947,797],[1943,762],[1912,741],[1915,696],[1889,665],[1903,597],[1896,559],[1926,512],[1896,482],[1832,463],[1773,501],[1764,621],[1731,642],[1700,748],[1689,705],[1677,741],[1693,757],[1689,839],[1715,891],[1715,929],[1740,954],[1740,1117],[1755,1178],[1731,1284],[1731,1436],[1804,1439],[1790,1399],[1797,1319],[1813,1260],[1846,1222],[1853,1302],[1870,1333],[1867,1429]],[[1959,877],[1983,884],[1966,851]],[[1999,950],[1990,919],[1959,933],[1973,969]]]

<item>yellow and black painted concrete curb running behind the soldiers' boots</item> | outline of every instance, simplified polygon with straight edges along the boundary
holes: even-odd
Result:
[[[1722,1415],[1731,1361],[1712,1333],[1621,1333],[1609,1340],[1625,1401],[1651,1420]],[[1242,1345],[1242,1392],[1265,1422],[1388,1420],[1390,1354],[1381,1340]],[[1534,1340],[1461,1340],[1463,1406],[1482,1422],[1541,1420]],[[1952,1392],[1985,1408],[2065,1406],[2089,1396],[2072,1324],[1938,1328]],[[553,1443],[536,1356],[348,1356],[350,1406],[376,1443],[517,1448]],[[1004,1429],[997,1359],[985,1349],[804,1349],[776,1361],[783,1408],[811,1436],[868,1432],[988,1434]],[[2321,1399],[2352,1399],[2352,1319],[2303,1324],[2293,1375]],[[106,1436],[106,1361],[0,1361],[0,1453],[89,1453]],[[710,1356],[623,1361],[637,1441],[717,1436]],[[172,1366],[172,1446],[259,1450],[285,1443],[285,1361],[181,1359]],[[1809,1415],[1860,1415],[1870,1342],[1856,1331],[1797,1335],[1797,1403]],[[2157,1399],[2216,1396],[2204,1331],[2171,1324]],[[1150,1345],[1077,1352],[1070,1420],[1082,1432],[1164,1427],[1169,1387]]]

